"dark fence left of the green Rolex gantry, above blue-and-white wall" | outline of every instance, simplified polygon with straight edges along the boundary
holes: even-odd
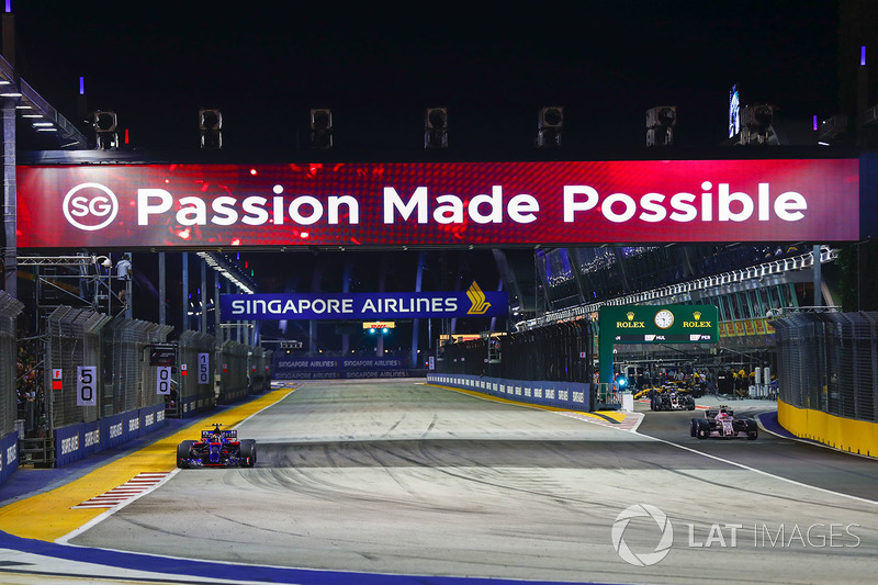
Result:
[[[437,372],[507,380],[592,382],[592,327],[586,319],[447,344]]]

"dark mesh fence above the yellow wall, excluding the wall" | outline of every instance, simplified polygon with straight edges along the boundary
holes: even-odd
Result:
[[[779,398],[878,421],[878,313],[800,313],[773,322]]]

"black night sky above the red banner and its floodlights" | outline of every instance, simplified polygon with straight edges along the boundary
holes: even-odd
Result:
[[[16,65],[71,121],[83,76],[88,109],[153,151],[196,148],[202,106],[227,149],[275,154],[306,151],[308,110],[331,108],[354,157],[423,149],[426,106],[449,109],[452,149],[499,156],[532,151],[545,105],[571,149],[640,148],[667,104],[678,145],[716,145],[733,83],[744,105],[837,109],[832,1],[375,4],[13,0]]]

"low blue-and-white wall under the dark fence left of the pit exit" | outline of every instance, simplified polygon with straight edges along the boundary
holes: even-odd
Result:
[[[526,404],[553,406],[569,410],[592,409],[592,384],[583,382],[549,382],[506,380],[466,374],[427,374],[427,382],[506,398]]]

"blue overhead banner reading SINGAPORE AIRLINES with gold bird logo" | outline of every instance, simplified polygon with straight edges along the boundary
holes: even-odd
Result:
[[[475,282],[465,292],[223,294],[219,313],[225,322],[505,317],[509,313],[509,294],[483,292]]]

